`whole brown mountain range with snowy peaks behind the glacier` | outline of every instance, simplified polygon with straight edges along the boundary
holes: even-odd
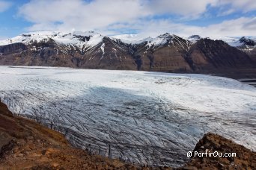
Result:
[[[1,41],[0,64],[210,73],[255,69],[255,51],[246,50],[255,47],[254,40],[227,42],[237,47],[196,35],[125,41],[94,31],[34,32]]]

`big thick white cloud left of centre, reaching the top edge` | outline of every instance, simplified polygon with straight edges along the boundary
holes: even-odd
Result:
[[[90,3],[82,0],[32,0],[19,9],[19,15],[34,23],[31,30],[98,29],[149,14],[138,0],[96,0]]]

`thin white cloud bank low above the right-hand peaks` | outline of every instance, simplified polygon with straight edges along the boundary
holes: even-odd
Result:
[[[213,39],[220,39],[222,37],[256,36],[256,17],[240,17],[238,19],[226,20],[219,24],[208,25],[206,27],[184,25],[168,20],[152,20],[148,22],[137,21],[132,23],[132,25],[136,25],[135,29],[139,32],[136,36],[138,39],[148,36],[156,37],[159,34],[164,34],[166,32],[177,34],[180,37],[189,37],[193,34],[199,34],[201,37],[210,37]]]

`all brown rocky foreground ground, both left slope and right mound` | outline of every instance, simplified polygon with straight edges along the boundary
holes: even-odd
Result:
[[[195,152],[236,153],[236,157],[194,157]],[[172,169],[141,167],[73,148],[61,133],[13,116],[0,102],[0,169]],[[207,133],[192,159],[178,169],[256,169],[256,153]]]

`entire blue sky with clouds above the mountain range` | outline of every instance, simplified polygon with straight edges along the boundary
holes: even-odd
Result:
[[[31,31],[256,36],[256,0],[0,0],[0,40]]]

